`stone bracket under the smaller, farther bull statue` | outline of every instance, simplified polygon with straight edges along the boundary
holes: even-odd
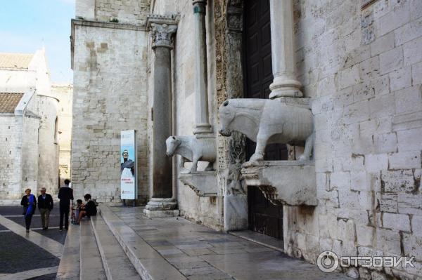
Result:
[[[179,180],[198,196],[217,196],[217,171],[180,173]]]

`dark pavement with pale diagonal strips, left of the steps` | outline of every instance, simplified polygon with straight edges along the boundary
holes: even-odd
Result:
[[[58,215],[50,219],[56,224]],[[41,227],[40,220],[35,215],[27,233],[21,206],[0,207],[0,280],[56,279],[66,233],[34,229]]]

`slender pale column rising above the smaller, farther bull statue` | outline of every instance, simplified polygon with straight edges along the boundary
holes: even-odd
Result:
[[[207,94],[207,42],[205,31],[205,12],[207,0],[193,0],[195,25],[195,128],[193,134],[211,133],[208,114]]]

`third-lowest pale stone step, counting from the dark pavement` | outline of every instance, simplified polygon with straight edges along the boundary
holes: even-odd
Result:
[[[107,279],[140,280],[141,276],[136,272],[101,215],[91,217],[91,225]]]

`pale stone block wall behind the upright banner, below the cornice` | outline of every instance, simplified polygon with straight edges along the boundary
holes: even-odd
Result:
[[[138,189],[148,198],[148,36],[143,29],[75,26],[72,186],[120,200],[120,131],[136,129]]]

